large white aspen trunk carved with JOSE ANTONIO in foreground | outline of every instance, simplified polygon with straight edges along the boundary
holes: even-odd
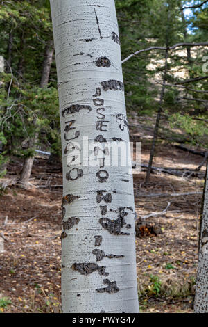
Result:
[[[128,166],[107,166],[110,143],[129,141],[114,0],[51,0],[63,161],[63,312],[139,312],[135,205]],[[69,162],[88,138],[98,166]],[[85,152],[85,154],[84,154]],[[91,155],[91,153],[90,153]]]

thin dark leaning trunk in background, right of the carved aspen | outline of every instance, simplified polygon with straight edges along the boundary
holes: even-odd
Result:
[[[152,166],[153,166],[153,158],[154,158],[154,155],[155,155],[155,147],[156,147],[157,136],[158,136],[158,131],[159,131],[159,122],[160,122],[161,113],[162,113],[162,102],[163,102],[163,99],[164,99],[164,92],[165,92],[165,88],[166,88],[167,70],[168,70],[168,50],[166,50],[163,85],[162,85],[162,90],[161,90],[161,93],[160,93],[159,109],[157,111],[157,119],[156,119],[156,123],[155,123],[153,142],[152,142],[151,150],[150,150],[150,159],[149,159],[149,163],[148,163],[148,170],[147,170],[147,173],[146,173],[145,183],[148,183],[149,180],[150,180],[150,173],[151,173]]]

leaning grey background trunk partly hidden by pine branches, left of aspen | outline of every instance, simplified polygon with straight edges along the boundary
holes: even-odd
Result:
[[[44,88],[49,83],[49,76],[51,71],[51,63],[53,60],[53,41],[49,42],[49,45],[46,45],[44,63],[42,67],[42,78],[40,81],[40,88]],[[37,143],[38,133],[35,134],[34,140],[31,142],[33,148],[35,148],[35,144]],[[25,188],[28,186],[29,179],[31,177],[31,172],[33,168],[33,161],[35,157],[28,157],[24,160],[24,166],[21,170],[20,182],[24,185]]]

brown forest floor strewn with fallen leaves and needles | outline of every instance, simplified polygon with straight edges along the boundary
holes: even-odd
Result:
[[[150,144],[142,143],[142,163]],[[157,147],[153,165],[196,168],[202,157],[167,143]],[[6,178],[18,177],[21,163],[10,163]],[[205,173],[205,166],[202,167]],[[198,218],[203,179],[154,173],[143,185],[145,172],[134,174],[137,218],[153,212],[136,239],[141,312],[193,312],[198,260]],[[28,190],[10,186],[0,196],[0,312],[60,312],[62,173],[46,159],[35,158]],[[49,186],[37,188],[37,185]],[[155,193],[190,193],[153,196]],[[143,196],[141,196],[143,195]],[[5,219],[7,223],[3,226]],[[145,225],[144,223],[144,225]],[[148,227],[156,225],[155,235]],[[2,247],[2,238],[0,237]],[[1,248],[0,248],[1,250]]]

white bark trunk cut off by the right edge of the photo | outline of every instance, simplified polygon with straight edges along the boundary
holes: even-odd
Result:
[[[196,297],[194,303],[196,313],[208,313],[208,169],[203,200]]]

